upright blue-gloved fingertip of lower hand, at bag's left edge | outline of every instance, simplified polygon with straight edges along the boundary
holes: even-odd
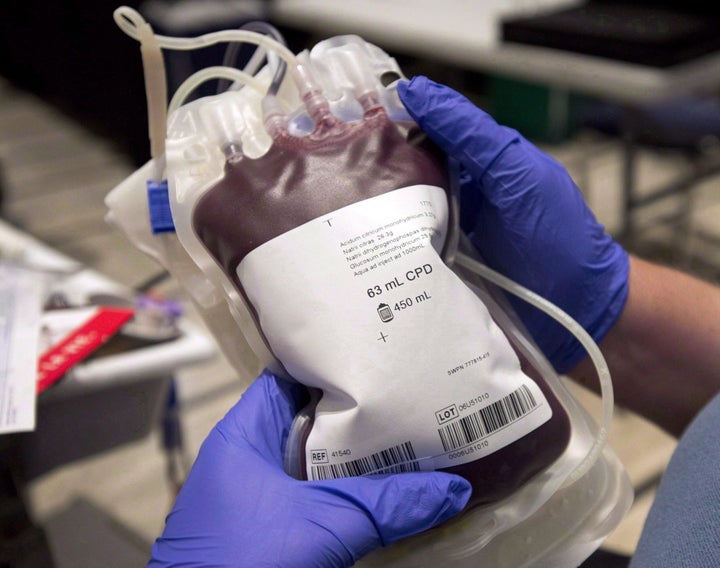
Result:
[[[266,459],[282,464],[292,421],[307,399],[305,388],[263,371],[216,429],[236,446],[251,445]]]

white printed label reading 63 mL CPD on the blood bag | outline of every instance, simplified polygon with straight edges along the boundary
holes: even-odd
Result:
[[[237,267],[271,349],[323,396],[309,479],[434,470],[488,455],[552,416],[480,299],[442,261],[445,192],[349,205]]]

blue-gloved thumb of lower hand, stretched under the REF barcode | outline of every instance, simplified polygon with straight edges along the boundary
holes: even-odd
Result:
[[[435,527],[463,510],[472,492],[470,483],[460,476],[443,472],[418,472],[335,479],[314,484],[314,500],[326,494],[336,503],[348,503],[354,514],[333,514],[332,507],[318,507],[332,518],[318,519],[332,527],[337,538],[356,557],[378,546]],[[374,530],[358,531],[360,518]],[[358,542],[358,539],[360,541]]]

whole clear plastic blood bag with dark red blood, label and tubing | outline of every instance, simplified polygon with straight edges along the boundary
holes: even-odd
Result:
[[[461,234],[455,168],[400,103],[397,63],[357,36],[295,55],[266,24],[181,40],[127,8],[116,20],[143,47],[155,139],[148,164],[108,195],[110,218],[178,278],[239,370],[249,346],[260,367],[308,388],[288,474],[442,470],[471,482],[457,519],[368,565],[580,563],[631,500],[605,446],[607,366],[575,322],[491,271]],[[258,51],[242,70],[189,77],[169,107],[153,102],[167,100],[162,49],[221,41]],[[189,101],[211,79],[218,94]],[[171,227],[154,224],[158,188]],[[507,292],[587,347],[599,423]]]

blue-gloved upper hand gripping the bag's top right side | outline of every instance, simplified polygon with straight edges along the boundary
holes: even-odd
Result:
[[[599,342],[628,295],[628,255],[566,170],[452,89],[416,77],[398,93],[420,128],[461,167],[460,224],[491,268],[559,306]],[[511,297],[555,368],[586,355],[560,324]]]

